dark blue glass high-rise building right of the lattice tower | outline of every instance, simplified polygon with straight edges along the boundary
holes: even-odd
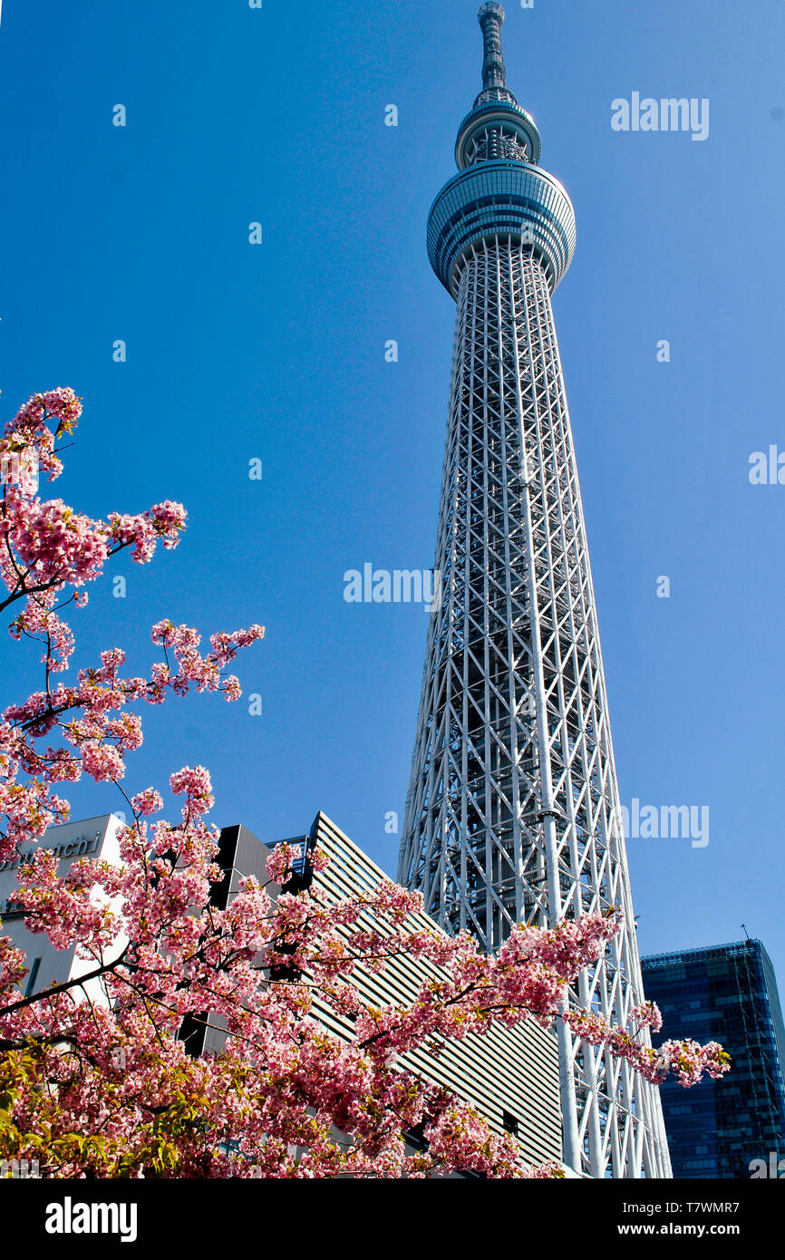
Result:
[[[654,954],[641,965],[663,1037],[718,1041],[731,1056],[727,1077],[662,1087],[673,1176],[785,1176],[785,1028],[761,942]]]

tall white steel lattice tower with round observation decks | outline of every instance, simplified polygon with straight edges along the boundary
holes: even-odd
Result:
[[[643,999],[597,614],[551,296],[575,212],[507,87],[484,4],[483,91],[436,198],[433,271],[457,302],[430,620],[398,878],[495,950],[515,922],[615,906],[621,934],[571,1002]],[[670,1177],[656,1087],[558,1021],[563,1158]],[[648,1033],[640,1037],[649,1045]]]

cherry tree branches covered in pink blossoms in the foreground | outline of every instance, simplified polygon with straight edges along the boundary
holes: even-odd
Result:
[[[655,1084],[672,1072],[683,1085],[726,1072],[714,1042],[653,1050],[645,1031],[662,1021],[651,1004],[624,1028],[593,1011],[558,1016],[570,982],[619,930],[616,912],[548,931],[519,925],[486,956],[467,934],[423,930],[420,896],[392,882],[345,900],[286,891],[297,858],[286,844],[273,850],[267,885],[246,878],[226,910],[215,907],[208,771],[170,776],[183,798],[170,823],[155,816],[164,806],[154,788],[126,793],[126,757],[141,745],[144,704],[193,689],[236,701],[227,667],[263,629],[213,634],[203,651],[194,629],[159,621],[152,644],[163,659],[147,677],[125,677],[118,648],[71,677],[74,635],[63,610],[87,604],[86,587],[117,552],[131,548],[147,563],[185,527],[179,503],[93,520],[38,496],[30,469],[59,475],[57,444],[79,415],[71,389],[35,394],[0,440],[0,606],[11,636],[43,649],[42,690],[0,721],[0,862],[23,854],[14,908],[54,948],[76,942],[84,964],[78,979],[23,995],[26,959],[0,936],[0,1158],[38,1160],[49,1178],[551,1177],[559,1169],[525,1167],[510,1135],[491,1133],[401,1057],[483,1034],[494,1021],[566,1018]],[[118,863],[83,857],[59,874],[39,840],[68,818],[60,785],[84,775],[115,784],[132,820],[118,833]],[[316,850],[310,861],[319,869],[326,858]],[[368,1008],[355,969],[383,970],[401,953],[423,960],[430,978],[408,1007]],[[350,1017],[352,1040],[314,1018],[316,999]],[[226,1048],[189,1055],[185,1019],[223,1029]],[[411,1133],[422,1149],[406,1144]]]

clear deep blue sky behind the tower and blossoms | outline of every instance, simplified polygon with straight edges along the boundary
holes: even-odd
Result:
[[[425,226],[479,91],[476,6],[5,0],[0,26],[1,418],[73,386],[53,493],[190,512],[174,554],[122,561],[125,601],[92,590],[78,663],[144,667],[161,616],[267,626],[239,668],[263,714],[146,712],[127,786],[203,762],[218,823],[276,839],[321,808],[393,873],[426,614],[347,604],[343,573],[433,559],[454,304]],[[510,0],[504,40],[577,213],[554,307],[621,799],[711,809],[706,848],[630,840],[641,949],[743,921],[785,984],[785,485],[747,476],[785,450],[785,4]],[[708,140],[614,132],[635,91],[708,97]],[[0,648],[8,699],[38,682],[20,658]]]

